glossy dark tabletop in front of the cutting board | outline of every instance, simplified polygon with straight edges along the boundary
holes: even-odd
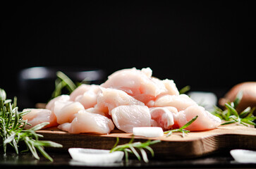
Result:
[[[0,168],[256,168],[253,163],[237,163],[228,151],[200,158],[162,160],[152,158],[149,163],[131,157],[128,163],[88,165],[73,161],[68,152],[49,152],[54,162],[42,157],[36,160],[29,153],[0,155]]]

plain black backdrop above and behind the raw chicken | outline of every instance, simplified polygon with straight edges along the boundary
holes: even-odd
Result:
[[[2,2],[1,2],[2,3]],[[255,80],[250,1],[8,1],[1,4],[1,80],[18,91],[33,66],[150,67],[179,89]]]

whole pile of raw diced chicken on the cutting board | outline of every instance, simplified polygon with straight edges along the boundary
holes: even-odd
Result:
[[[186,129],[210,130],[221,120],[179,94],[173,80],[152,77],[150,68],[118,70],[101,85],[82,84],[70,95],[58,96],[45,109],[30,108],[23,118],[32,126],[49,122],[70,133],[108,134],[117,127],[133,132],[133,127],[179,128],[198,115]],[[27,126],[27,127],[32,127]]]

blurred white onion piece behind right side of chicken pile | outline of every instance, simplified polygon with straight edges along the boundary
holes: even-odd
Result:
[[[213,111],[217,106],[217,96],[212,92],[189,92],[188,96],[207,111]]]

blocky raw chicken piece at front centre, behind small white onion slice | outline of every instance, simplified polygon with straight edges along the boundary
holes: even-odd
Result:
[[[111,111],[112,120],[119,130],[133,132],[133,127],[150,127],[151,115],[147,106],[118,106]]]

